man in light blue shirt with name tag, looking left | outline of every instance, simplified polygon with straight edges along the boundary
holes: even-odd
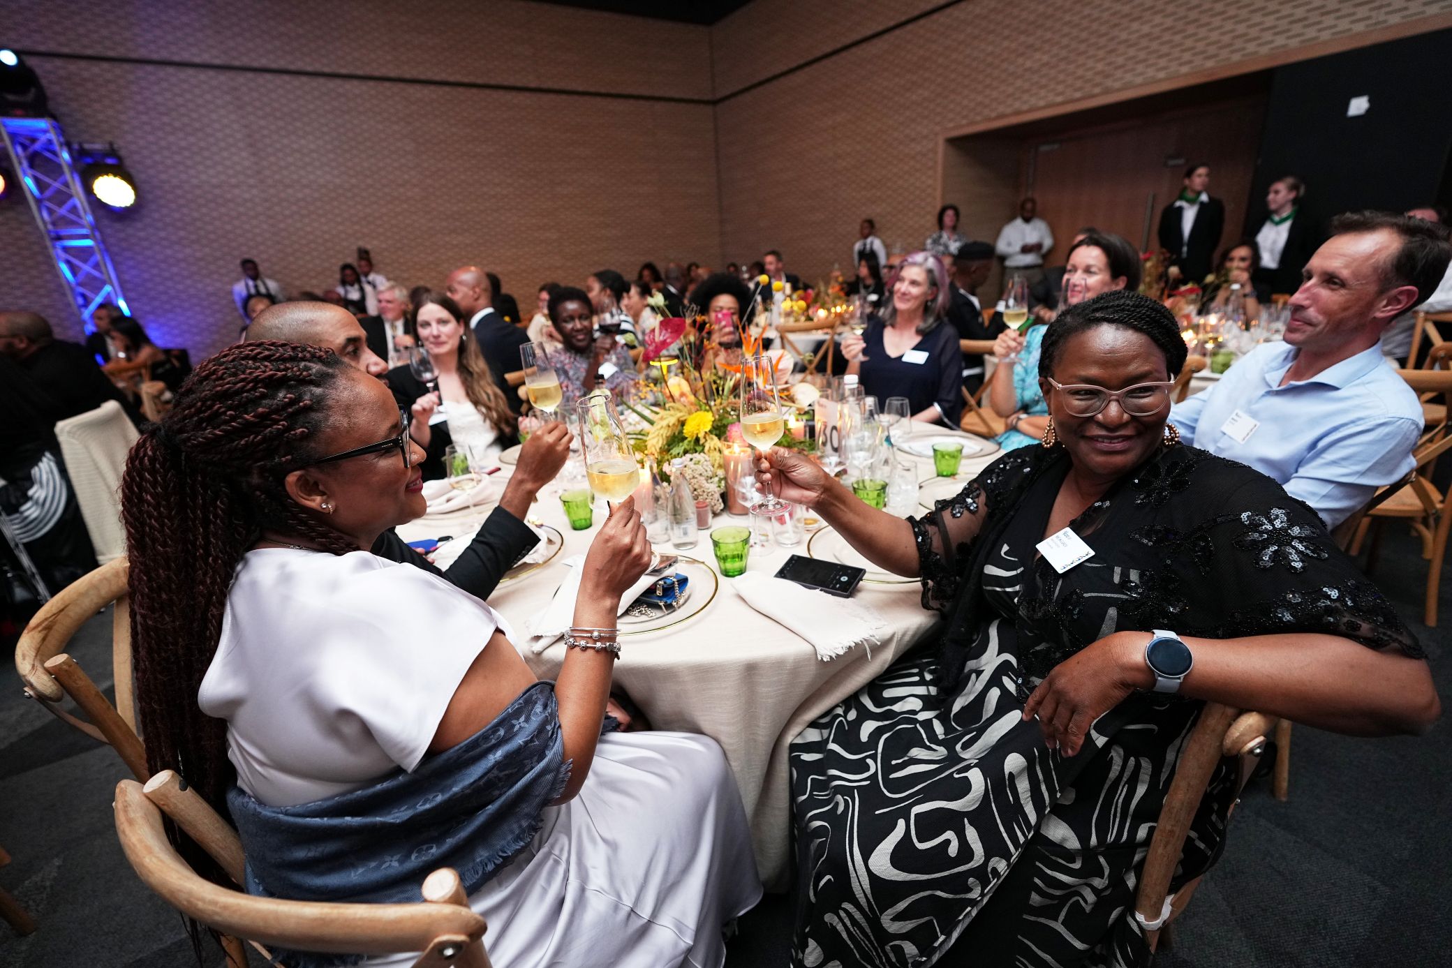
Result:
[[[1291,298],[1285,343],[1246,354],[1170,411],[1185,443],[1275,477],[1334,528],[1413,469],[1422,403],[1381,334],[1452,260],[1442,225],[1382,212],[1331,222]]]

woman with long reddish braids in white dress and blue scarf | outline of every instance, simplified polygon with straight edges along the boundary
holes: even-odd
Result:
[[[250,893],[408,901],[453,866],[497,964],[719,967],[761,893],[720,747],[601,736],[616,611],[650,562],[633,504],[537,682],[488,605],[362,550],[423,514],[421,459],[383,383],[331,350],[197,367],[122,482],[150,768],[231,814]]]

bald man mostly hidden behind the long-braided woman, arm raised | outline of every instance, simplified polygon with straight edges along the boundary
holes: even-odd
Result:
[[[253,325],[247,327],[244,340],[247,343],[280,340],[325,347],[364,373],[379,379],[388,373],[388,363],[369,348],[367,335],[353,313],[325,302],[285,302],[269,306],[257,313]],[[568,457],[569,431],[563,424],[550,424],[530,434],[529,443],[520,451],[514,476],[499,496],[499,506],[485,518],[473,541],[447,570],[408,547],[392,528],[379,536],[370,550],[391,562],[404,562],[441,575],[450,585],[485,599],[504,573],[539,543],[539,536],[524,524],[524,515],[529,514],[534,495],[546,482],[555,479]]]

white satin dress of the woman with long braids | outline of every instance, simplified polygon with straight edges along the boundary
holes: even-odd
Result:
[[[423,569],[366,551],[250,551],[197,700],[227,720],[238,784],[295,805],[414,769],[465,672],[508,625]],[[720,746],[607,734],[569,803],[470,898],[494,964],[717,968],[761,898]],[[370,959],[408,965],[412,956]]]

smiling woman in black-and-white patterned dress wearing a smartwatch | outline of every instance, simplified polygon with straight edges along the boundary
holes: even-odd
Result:
[[[794,964],[1147,965],[1138,868],[1205,701],[1362,736],[1439,715],[1417,640],[1316,512],[1178,443],[1185,356],[1151,299],[1069,306],[1043,441],[922,518],[791,451],[761,464],[945,617],[791,746]],[[1230,766],[1173,890],[1218,853]]]

